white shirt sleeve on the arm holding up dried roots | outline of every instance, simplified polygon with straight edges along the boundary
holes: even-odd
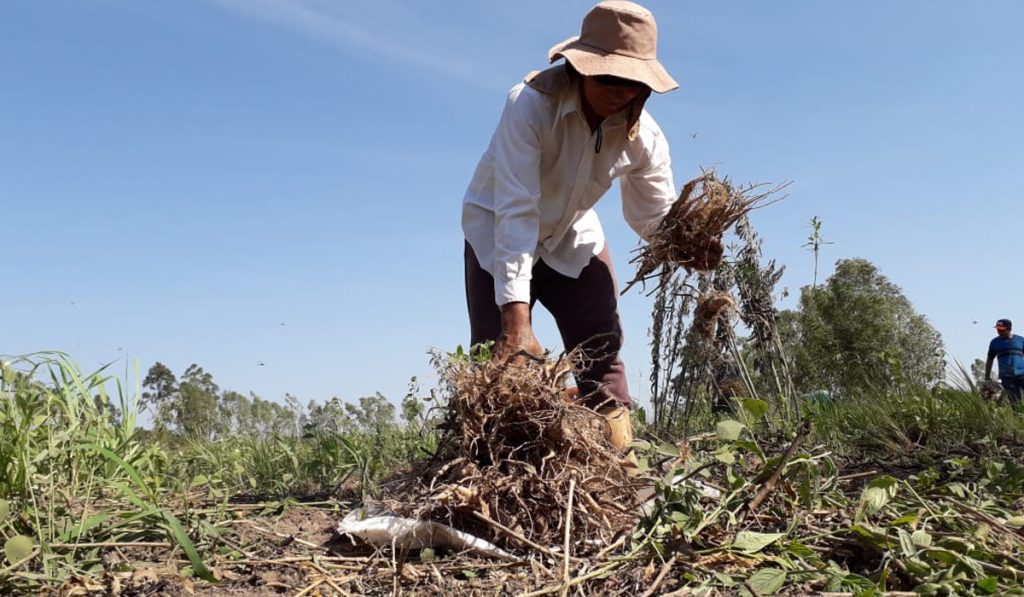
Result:
[[[621,181],[623,215],[641,239],[649,241],[675,202],[676,189],[668,139],[656,125],[641,135],[642,157]]]

